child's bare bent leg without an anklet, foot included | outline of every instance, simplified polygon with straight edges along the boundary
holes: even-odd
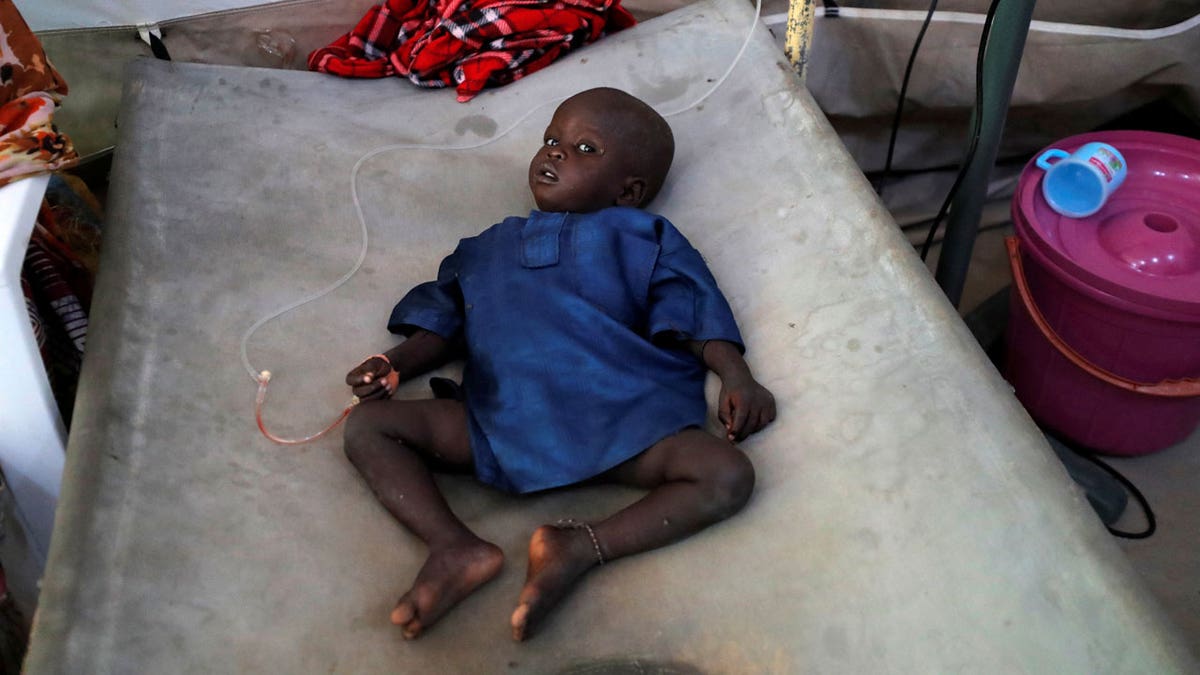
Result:
[[[347,422],[346,455],[384,508],[428,545],[428,558],[391,613],[404,637],[415,638],[504,562],[499,548],[451,513],[425,462],[430,456],[472,466],[466,412],[457,401],[364,401]]]

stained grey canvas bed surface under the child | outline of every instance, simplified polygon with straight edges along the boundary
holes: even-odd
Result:
[[[29,673],[1194,671],[766,30],[706,96],[752,18],[703,1],[468,104],[398,79],[134,64]],[[388,614],[424,546],[337,434],[259,435],[252,374],[275,374],[275,432],[324,425],[343,374],[392,340],[400,294],[532,207],[553,102],[593,85],[676,113],[652,208],[707,257],[779,402],[743,444],[756,492],[592,573],[515,644],[532,530],[637,492],[446,477],[508,563],[407,643]],[[365,259],[324,293],[362,251],[355,204]]]

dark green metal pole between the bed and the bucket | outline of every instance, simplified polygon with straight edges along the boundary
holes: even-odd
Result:
[[[937,257],[935,279],[955,306],[962,299],[971,252],[979,231],[979,217],[986,199],[988,177],[996,163],[1004,118],[1013,97],[1016,71],[1025,52],[1025,37],[1037,0],[1001,0],[992,18],[991,37],[983,64],[983,123],[974,157],[962,178],[959,193],[950,204],[946,238]],[[974,118],[971,119],[972,127]]]

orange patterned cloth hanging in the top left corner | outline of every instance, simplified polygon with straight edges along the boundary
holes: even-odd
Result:
[[[67,83],[8,0],[0,0],[0,186],[76,162],[71,141],[54,127]]]

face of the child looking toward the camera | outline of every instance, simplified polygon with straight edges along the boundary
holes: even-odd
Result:
[[[544,211],[589,213],[640,205],[631,192],[624,137],[613,115],[575,101],[554,112],[542,147],[529,162],[529,190]]]

